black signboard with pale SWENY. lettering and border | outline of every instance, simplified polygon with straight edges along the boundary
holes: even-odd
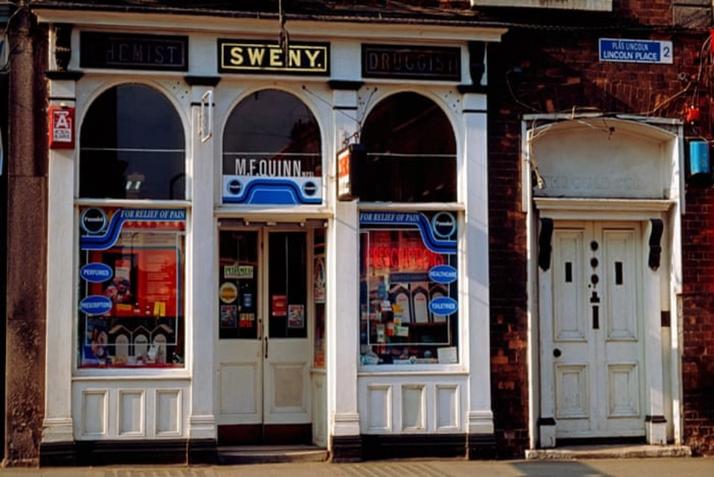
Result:
[[[290,42],[287,58],[278,43],[218,40],[218,71],[243,74],[329,75],[330,44]]]

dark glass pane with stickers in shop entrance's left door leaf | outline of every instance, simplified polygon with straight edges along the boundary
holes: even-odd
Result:
[[[258,337],[258,232],[221,231],[219,337]]]

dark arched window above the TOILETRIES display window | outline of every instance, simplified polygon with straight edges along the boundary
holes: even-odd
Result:
[[[432,100],[399,93],[367,116],[361,142],[367,153],[362,201],[456,201],[456,140]]]

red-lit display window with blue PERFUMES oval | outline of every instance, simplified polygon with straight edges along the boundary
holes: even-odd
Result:
[[[182,367],[186,211],[79,217],[79,367]]]

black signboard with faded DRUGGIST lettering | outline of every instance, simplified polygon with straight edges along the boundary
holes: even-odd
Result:
[[[362,76],[461,80],[461,49],[446,46],[362,45]]]

